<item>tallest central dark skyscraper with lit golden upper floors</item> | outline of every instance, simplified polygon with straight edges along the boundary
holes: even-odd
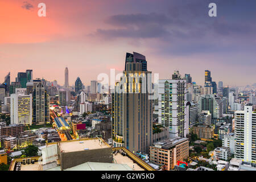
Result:
[[[134,57],[144,61],[135,62]],[[147,81],[144,82],[151,72],[145,70],[145,65],[145,56],[126,53],[125,71],[112,94],[113,146],[125,146],[131,152],[148,152],[153,140],[152,100],[148,99],[150,90]]]

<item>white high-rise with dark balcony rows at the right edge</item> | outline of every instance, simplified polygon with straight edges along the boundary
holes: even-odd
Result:
[[[245,162],[256,160],[256,113],[251,104],[245,110],[236,111],[235,117],[235,152],[234,158]]]

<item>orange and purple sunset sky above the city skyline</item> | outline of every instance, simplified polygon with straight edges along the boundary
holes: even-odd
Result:
[[[38,4],[46,4],[46,17]],[[217,4],[217,17],[208,5]],[[255,0],[1,0],[0,82],[11,72],[84,85],[125,67],[126,52],[146,56],[148,70],[171,78],[175,69],[192,81],[224,86],[256,82]]]

